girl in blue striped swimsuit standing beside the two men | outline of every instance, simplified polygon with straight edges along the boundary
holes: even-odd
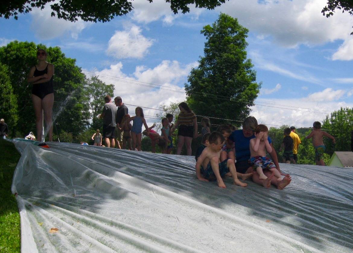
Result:
[[[148,134],[150,131],[146,124],[146,120],[144,118],[143,110],[141,107],[136,107],[135,114],[136,116],[132,116],[130,118],[130,121],[132,121],[132,128],[131,128],[132,150],[135,150],[137,146],[137,151],[141,151],[142,125],[145,126]]]

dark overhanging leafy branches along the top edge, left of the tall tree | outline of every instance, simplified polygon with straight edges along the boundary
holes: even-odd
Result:
[[[147,0],[150,3],[152,0]],[[187,13],[190,8],[187,5],[195,4],[197,8],[213,10],[215,7],[225,3],[226,0],[165,0],[170,3],[170,9],[177,14],[178,11]],[[28,13],[32,8],[43,10],[47,3],[54,0],[17,0],[6,1],[0,5],[0,17],[6,19],[14,16],[18,19],[19,13]],[[50,5],[52,16],[75,22],[78,18],[90,22],[109,22],[114,16],[123,16],[133,10],[132,2],[128,0],[59,0]]]

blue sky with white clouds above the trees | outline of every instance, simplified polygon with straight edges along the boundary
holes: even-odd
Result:
[[[249,29],[248,57],[257,82],[263,83],[251,115],[268,126],[308,127],[341,106],[353,107],[353,17],[337,12],[325,18],[321,14],[325,4],[325,0],[231,0],[215,10],[190,6],[190,13],[174,15],[164,1],[137,0],[133,12],[108,23],[66,22],[50,17],[47,6],[18,20],[0,18],[0,46],[12,40],[59,46],[90,71],[85,73],[95,72],[103,82],[114,84],[114,95],[124,103],[158,108],[184,101],[180,89],[203,55],[205,37],[200,31],[223,12]],[[154,116],[158,111],[145,108],[144,113]],[[155,121],[146,120],[149,125]]]

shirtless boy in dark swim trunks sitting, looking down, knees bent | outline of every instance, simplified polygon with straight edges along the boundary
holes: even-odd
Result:
[[[222,146],[225,143],[223,135],[216,131],[212,132],[208,137],[208,143],[209,146],[205,147],[196,162],[197,179],[207,182],[217,181],[219,187],[226,188],[222,177],[230,172],[234,184],[243,187],[247,186],[246,183],[243,183],[238,179],[233,159],[226,159],[222,163],[220,162]]]

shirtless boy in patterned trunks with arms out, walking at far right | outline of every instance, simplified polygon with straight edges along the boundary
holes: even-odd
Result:
[[[312,145],[315,148],[316,165],[325,166],[324,160],[322,159],[322,155],[324,154],[324,152],[326,150],[326,147],[324,145],[324,142],[322,141],[322,138],[324,136],[331,138],[333,144],[336,143],[336,140],[331,134],[328,134],[325,131],[321,130],[321,123],[319,121],[315,121],[312,126],[313,126],[314,129],[305,138],[306,139],[312,138]]]

